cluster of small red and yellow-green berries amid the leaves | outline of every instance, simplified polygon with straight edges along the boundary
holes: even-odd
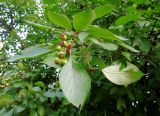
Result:
[[[58,65],[65,65],[67,63],[66,56],[70,54],[72,43],[67,41],[67,35],[65,33],[61,34],[61,39],[55,48],[57,51],[55,63]]]

